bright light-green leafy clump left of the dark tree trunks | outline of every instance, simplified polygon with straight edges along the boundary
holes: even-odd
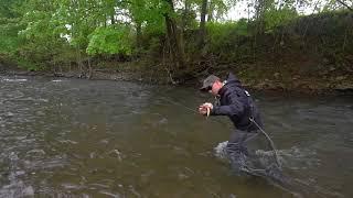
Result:
[[[86,50],[89,55],[124,54],[131,55],[130,30],[127,26],[97,28],[88,37]]]

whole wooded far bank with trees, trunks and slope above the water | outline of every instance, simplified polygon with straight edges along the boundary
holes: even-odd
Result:
[[[242,2],[248,18],[224,22]],[[352,89],[352,3],[318,2],[0,0],[0,65],[172,84],[232,70],[255,88]]]

